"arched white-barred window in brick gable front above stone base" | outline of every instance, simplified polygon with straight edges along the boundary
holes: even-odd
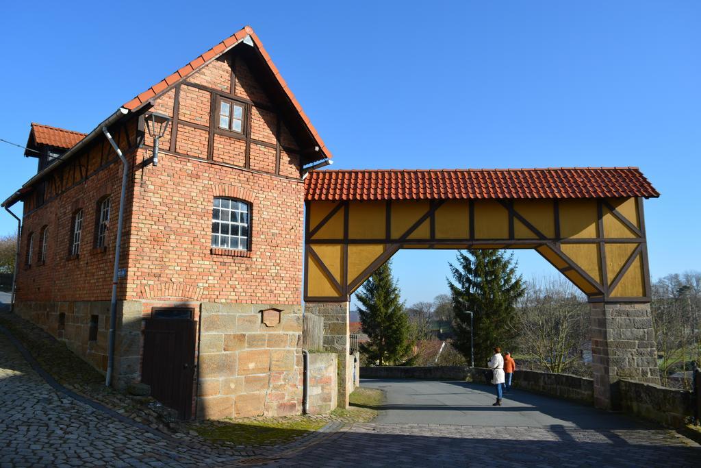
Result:
[[[212,247],[248,250],[249,236],[249,203],[216,197],[212,206]]]

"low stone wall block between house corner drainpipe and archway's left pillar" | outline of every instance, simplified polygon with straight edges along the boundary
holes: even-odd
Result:
[[[330,413],[338,403],[336,353],[309,354],[309,414]]]

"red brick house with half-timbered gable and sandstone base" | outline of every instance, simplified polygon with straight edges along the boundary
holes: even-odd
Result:
[[[170,119],[154,140],[144,116]],[[245,27],[86,134],[33,123],[15,312],[183,417],[301,411],[305,166],[331,155]]]

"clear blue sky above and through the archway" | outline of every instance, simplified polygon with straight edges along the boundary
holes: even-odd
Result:
[[[0,138],[90,131],[250,24],[334,168],[639,166],[653,278],[701,268],[698,1],[6,2]],[[36,160],[0,143],[0,198]],[[0,216],[0,232],[14,229]],[[553,274],[518,253],[524,276]],[[447,290],[449,251],[403,251],[407,302]]]

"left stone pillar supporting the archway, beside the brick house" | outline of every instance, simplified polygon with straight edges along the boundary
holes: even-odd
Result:
[[[353,389],[353,361],[348,333],[350,302],[305,302],[304,313],[324,317],[324,351],[338,354],[339,408],[348,408]]]

